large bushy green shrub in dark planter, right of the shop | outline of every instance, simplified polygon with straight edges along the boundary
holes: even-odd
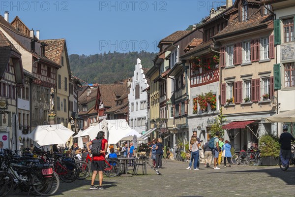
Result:
[[[260,137],[259,149],[261,152],[262,165],[277,165],[280,154],[279,138],[272,134]]]

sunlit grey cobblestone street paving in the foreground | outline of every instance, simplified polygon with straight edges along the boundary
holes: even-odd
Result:
[[[105,190],[89,190],[90,178],[73,183],[60,182],[57,197],[294,197],[295,167],[283,172],[279,166],[185,169],[188,163],[164,161],[162,176],[148,168],[148,175],[105,177]],[[140,172],[141,168],[139,169]],[[98,178],[95,185],[98,184]],[[9,197],[25,197],[11,193]]]

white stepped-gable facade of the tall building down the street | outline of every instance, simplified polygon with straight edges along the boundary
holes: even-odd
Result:
[[[138,75],[137,75],[138,73]],[[138,76],[138,77],[137,77]],[[135,86],[139,84],[139,99],[135,99]],[[147,103],[147,92],[142,92],[141,90],[144,90],[148,87],[147,79],[144,74],[144,71],[142,69],[141,60],[136,60],[135,70],[132,77],[132,83],[130,87],[130,93],[128,95],[129,99],[129,125],[131,129],[136,130],[139,133],[142,133],[143,131],[146,131],[146,126],[137,127],[135,123],[135,119],[137,118],[146,118],[146,121],[148,120],[148,109],[147,107],[145,109],[140,110],[140,102],[146,101]],[[134,96],[133,96],[133,90],[134,90]],[[136,110],[136,102],[138,102],[138,110]],[[131,103],[134,103],[134,110],[131,111]],[[148,106],[148,103],[146,104]],[[131,120],[133,119],[133,125],[131,125]]]

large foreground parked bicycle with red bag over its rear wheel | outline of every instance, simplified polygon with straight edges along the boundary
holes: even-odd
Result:
[[[28,195],[52,196],[57,192],[59,178],[49,164],[7,152],[0,155],[0,197],[7,195],[13,185]]]

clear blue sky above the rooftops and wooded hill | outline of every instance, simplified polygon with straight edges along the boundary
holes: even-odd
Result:
[[[69,54],[158,52],[159,40],[185,30],[207,16],[212,5],[203,0],[0,0],[0,15],[9,11],[40,39],[65,38]]]

